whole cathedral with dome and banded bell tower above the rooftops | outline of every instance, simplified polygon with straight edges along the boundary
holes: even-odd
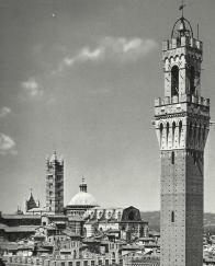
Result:
[[[79,192],[68,205],[64,205],[64,160],[56,152],[46,160],[46,205],[39,206],[31,190],[25,203],[25,211],[16,213],[0,212],[0,238],[18,241],[23,238],[43,238],[38,234],[42,228],[50,227],[56,232],[69,230],[73,236],[91,238],[109,234],[114,239],[132,241],[148,236],[148,222],[140,217],[140,211],[129,206],[101,207],[95,198],[88,193],[88,185],[82,178]]]

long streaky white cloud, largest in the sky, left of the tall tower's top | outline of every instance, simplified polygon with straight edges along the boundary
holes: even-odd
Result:
[[[65,57],[59,63],[58,71],[81,61],[99,61],[104,59],[121,61],[137,60],[147,56],[156,47],[157,43],[149,38],[104,37],[93,48],[86,46],[76,55]]]

